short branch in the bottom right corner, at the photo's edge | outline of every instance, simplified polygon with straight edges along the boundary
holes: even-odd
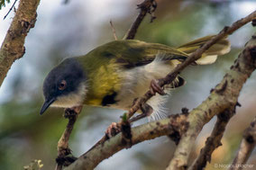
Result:
[[[256,145],[256,117],[248,129],[243,132],[243,139],[236,157],[233,159],[233,166],[230,170],[242,169]]]

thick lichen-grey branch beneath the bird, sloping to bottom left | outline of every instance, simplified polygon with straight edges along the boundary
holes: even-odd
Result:
[[[123,139],[122,134],[114,136],[105,141],[102,145],[82,155],[65,170],[91,170],[94,169],[102,160],[111,157],[114,153],[123,148],[131,148],[133,145],[144,140],[155,139],[172,133],[182,133],[187,129],[187,114],[171,115],[169,119],[154,121],[143,124],[132,129],[133,137],[130,142]]]

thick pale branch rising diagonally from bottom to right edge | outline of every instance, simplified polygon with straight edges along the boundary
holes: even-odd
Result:
[[[188,115],[189,128],[179,141],[168,169],[187,167],[187,160],[198,133],[215,114],[230,110],[236,105],[242,85],[255,69],[255,59],[256,39],[252,36],[222,82],[215,87],[205,102]]]

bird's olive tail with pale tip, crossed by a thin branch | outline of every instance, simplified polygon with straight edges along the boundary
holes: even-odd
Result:
[[[187,44],[184,44],[180,47],[178,47],[178,50],[187,53],[188,55],[192,52],[196,51],[202,45],[206,43],[207,40],[210,40],[215,35],[208,35],[206,37],[193,40],[191,42],[188,42]],[[215,45],[213,45],[210,49],[206,50],[206,52],[202,55],[202,58],[197,59],[198,65],[207,65],[212,64],[217,59],[217,56],[224,55],[230,51],[230,42],[226,38],[223,40],[219,40]]]

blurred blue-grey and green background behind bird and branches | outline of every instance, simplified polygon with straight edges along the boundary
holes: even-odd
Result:
[[[207,34],[215,34],[225,25],[241,19],[256,9],[255,1],[238,0],[157,0],[157,19],[150,23],[147,16],[137,32],[136,39],[179,46]],[[5,20],[10,9],[7,4],[0,11],[0,41],[12,22],[14,12]],[[114,40],[109,21],[114,22],[117,37],[123,38],[138,14],[136,4],[142,0],[42,0],[38,17],[25,40],[26,53],[15,61],[0,88],[0,169],[23,169],[34,159],[41,159],[42,169],[53,169],[57,156],[57,142],[65,129],[67,120],[63,110],[50,108],[39,115],[42,82],[50,69],[63,58],[86,54],[106,42]],[[18,2],[17,2],[18,4]],[[15,5],[17,7],[17,4]],[[182,73],[187,85],[178,88],[169,99],[170,112],[189,110],[202,103],[233,64],[245,42],[255,28],[247,24],[235,31],[230,40],[232,50],[218,58],[211,66],[191,66]],[[164,76],[164,75],[163,75]],[[215,169],[215,163],[230,164],[239,148],[242,131],[249,126],[256,110],[256,74],[246,82],[239,97],[242,107],[227,126],[222,140],[206,169]],[[86,152],[105,132],[113,121],[118,121],[123,111],[85,107],[69,140],[74,156]],[[135,125],[147,122],[143,120]],[[210,121],[197,138],[192,157],[196,157],[213,129],[215,119]],[[114,157],[103,161],[96,169],[165,169],[169,164],[175,145],[166,137],[145,141],[133,148],[124,149]],[[129,166],[123,162],[129,161]],[[256,168],[256,151],[248,164]],[[219,168],[222,169],[222,168]]]

